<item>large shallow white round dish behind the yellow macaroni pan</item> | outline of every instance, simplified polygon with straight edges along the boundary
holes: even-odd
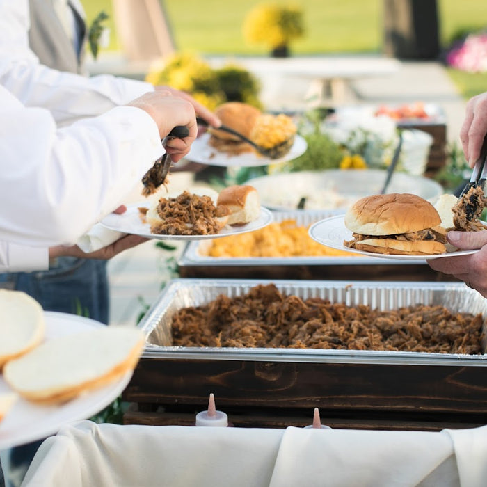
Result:
[[[347,209],[365,196],[381,192],[387,172],[381,169],[301,171],[249,179],[264,207],[279,211],[296,209],[306,198],[305,209]],[[394,173],[388,193],[413,193],[431,203],[444,193],[442,186],[428,177]]]

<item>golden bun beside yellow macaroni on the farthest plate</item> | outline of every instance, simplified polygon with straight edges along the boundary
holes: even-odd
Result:
[[[255,125],[257,117],[262,113],[255,106],[241,102],[227,102],[218,106],[215,115],[223,125],[236,130],[240,134],[250,138],[250,133]],[[209,129],[212,135],[224,141],[241,141],[241,138],[228,134],[218,129]]]

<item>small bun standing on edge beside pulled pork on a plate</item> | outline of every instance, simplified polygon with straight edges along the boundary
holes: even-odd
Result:
[[[250,223],[260,216],[259,193],[253,186],[228,186],[220,191],[216,204],[230,210],[228,225]]]

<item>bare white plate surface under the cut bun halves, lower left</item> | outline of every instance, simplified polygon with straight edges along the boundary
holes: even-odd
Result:
[[[90,327],[105,326],[75,314],[50,311],[45,312],[45,320],[46,340],[78,333]],[[119,381],[87,392],[60,406],[40,406],[19,398],[0,422],[0,450],[41,440],[56,434],[67,423],[86,420],[99,413],[122,393],[131,376],[132,372],[127,372]],[[0,375],[0,393],[10,391]]]

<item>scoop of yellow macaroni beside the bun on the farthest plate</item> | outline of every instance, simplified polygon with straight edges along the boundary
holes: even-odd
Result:
[[[276,145],[294,138],[296,135],[296,125],[292,118],[284,113],[271,115],[263,113],[257,120],[250,134],[250,139],[257,145],[269,149]]]

